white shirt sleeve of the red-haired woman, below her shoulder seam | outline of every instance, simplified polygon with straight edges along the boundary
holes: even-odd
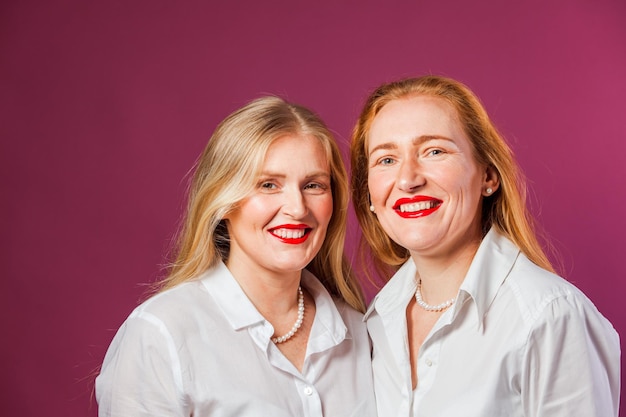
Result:
[[[617,417],[619,337],[582,301],[556,298],[536,319],[522,358],[525,416]]]

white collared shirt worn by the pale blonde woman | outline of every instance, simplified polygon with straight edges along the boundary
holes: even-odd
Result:
[[[302,373],[224,264],[137,307],[96,379],[104,416],[375,416],[362,314],[308,271],[316,313]],[[336,304],[335,304],[336,303]]]

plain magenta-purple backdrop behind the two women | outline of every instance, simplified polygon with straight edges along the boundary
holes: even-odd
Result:
[[[94,370],[161,273],[186,173],[263,93],[317,110],[345,150],[379,83],[464,81],[566,276],[626,334],[626,2],[210,3],[2,2],[1,415],[96,415]]]

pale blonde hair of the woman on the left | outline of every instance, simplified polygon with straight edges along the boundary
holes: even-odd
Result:
[[[229,255],[224,217],[256,186],[265,155],[285,135],[311,135],[323,145],[331,172],[333,214],[320,251],[307,266],[328,289],[363,312],[361,288],[344,256],[349,199],[339,148],[322,120],[309,109],[278,97],[261,97],[226,117],[200,156],[174,261],[157,291],[197,278]]]

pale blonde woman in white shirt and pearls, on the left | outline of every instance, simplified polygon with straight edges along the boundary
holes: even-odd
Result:
[[[310,110],[250,102],[196,167],[176,258],[117,332],[100,415],[374,416],[340,152]]]

